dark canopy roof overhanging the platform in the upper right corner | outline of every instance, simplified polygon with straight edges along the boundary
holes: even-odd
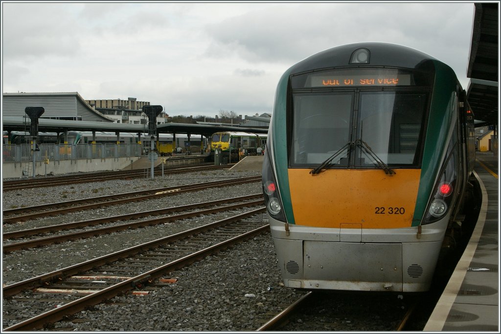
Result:
[[[498,2],[475,3],[466,98],[476,120],[497,125],[499,105]]]

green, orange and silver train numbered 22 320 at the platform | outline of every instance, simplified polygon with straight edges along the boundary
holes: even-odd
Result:
[[[472,201],[474,154],[465,91],[432,56],[366,42],[293,65],[263,163],[285,285],[428,290]]]

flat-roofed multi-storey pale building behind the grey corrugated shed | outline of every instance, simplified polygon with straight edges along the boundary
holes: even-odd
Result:
[[[85,100],[95,110],[113,118],[117,123],[146,124],[148,117],[143,113],[143,106],[150,102],[138,101],[136,97],[127,99],[87,99]],[[162,111],[157,117],[157,124],[167,122],[168,114]]]

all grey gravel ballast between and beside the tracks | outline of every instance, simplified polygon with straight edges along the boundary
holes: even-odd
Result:
[[[58,202],[96,195],[137,191],[219,179],[260,175],[229,170],[167,175],[164,178],[109,180],[4,193],[5,208]],[[80,221],[261,193],[261,182],[211,188],[158,199],[103,207],[92,211],[44,217],[4,226],[5,231]],[[90,258],[108,254],[156,238],[174,234],[231,215],[244,209],[194,217],[118,233],[111,233],[4,254],[3,283],[31,278]],[[267,220],[267,214],[260,214]],[[299,298],[302,291],[283,287],[273,241],[269,233],[231,247],[218,255],[170,274],[178,281],[149,295],[124,295],[76,314],[73,322],[60,321],[55,328],[76,331],[193,331],[254,330],[273,314]],[[57,307],[57,304],[54,305]],[[29,310],[27,316],[33,316]],[[54,328],[52,328],[54,329]],[[48,328],[51,330],[51,328]]]

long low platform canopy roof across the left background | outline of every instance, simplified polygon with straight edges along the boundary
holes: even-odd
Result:
[[[28,123],[26,123],[28,121]],[[29,131],[29,121],[27,117],[4,116],[2,125],[4,131]],[[148,132],[148,127],[143,124],[113,123],[100,121],[83,120],[61,120],[39,118],[39,131],[63,132],[65,130],[77,131],[118,131],[118,132]],[[157,125],[158,133],[190,133],[210,136],[217,131],[244,131],[255,133],[268,133],[267,128],[254,128],[228,125],[208,125],[208,124],[189,124],[189,123],[164,123]]]

